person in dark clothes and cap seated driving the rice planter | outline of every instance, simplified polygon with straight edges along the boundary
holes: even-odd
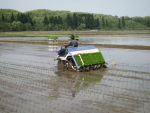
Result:
[[[70,38],[71,38],[71,41],[69,41],[68,44],[63,44],[65,46],[65,49],[67,47],[78,47],[78,42],[77,42],[77,40],[75,40],[74,35],[71,35]],[[65,49],[60,49],[58,51],[58,56],[62,56],[63,53],[65,54]]]

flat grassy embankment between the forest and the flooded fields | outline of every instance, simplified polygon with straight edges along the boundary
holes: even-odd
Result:
[[[24,32],[0,32],[0,37],[47,37],[75,35],[128,35],[150,34],[150,30],[120,30],[120,31],[24,31]]]

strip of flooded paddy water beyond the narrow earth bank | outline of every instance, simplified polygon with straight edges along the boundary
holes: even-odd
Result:
[[[47,37],[0,37],[0,40],[13,41],[47,41]],[[68,42],[68,37],[58,37],[58,42]],[[134,35],[88,35],[80,36],[80,43],[119,44],[119,45],[150,45],[149,34]]]

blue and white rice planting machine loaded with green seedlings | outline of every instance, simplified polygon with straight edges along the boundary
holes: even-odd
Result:
[[[61,53],[56,60],[64,66],[76,71],[90,71],[99,68],[106,68],[106,62],[102,53],[94,46],[61,47]]]

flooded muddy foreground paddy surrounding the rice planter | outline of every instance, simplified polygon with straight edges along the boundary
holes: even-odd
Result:
[[[97,48],[108,68],[75,72],[48,45],[0,43],[0,112],[149,113],[150,51]]]

